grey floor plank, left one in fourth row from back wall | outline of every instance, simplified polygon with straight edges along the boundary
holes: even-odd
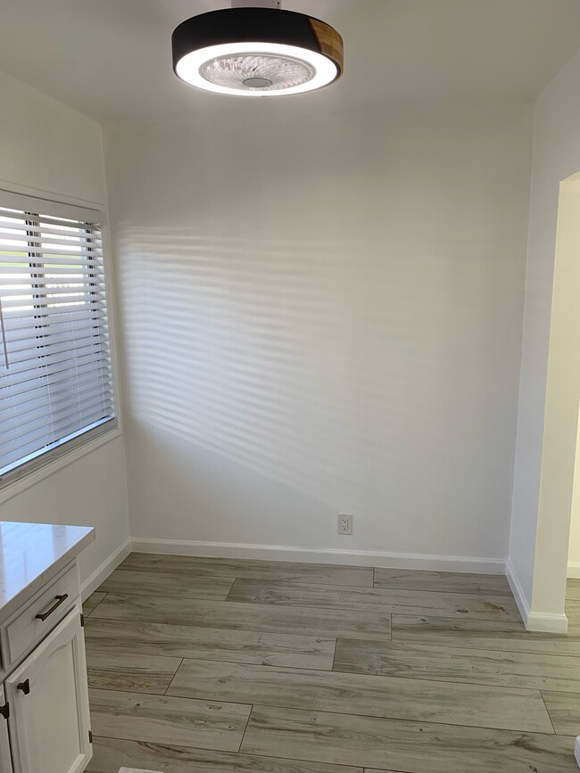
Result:
[[[169,655],[332,670],[336,638],[95,618],[87,620],[85,643],[89,653]]]

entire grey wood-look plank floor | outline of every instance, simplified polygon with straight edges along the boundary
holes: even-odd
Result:
[[[85,614],[90,773],[578,770],[580,635],[503,577],[134,553]]]

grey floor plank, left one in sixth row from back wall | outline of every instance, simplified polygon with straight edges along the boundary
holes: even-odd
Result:
[[[90,690],[95,736],[236,752],[250,706]]]

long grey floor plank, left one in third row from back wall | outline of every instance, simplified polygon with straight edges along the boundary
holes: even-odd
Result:
[[[391,615],[340,609],[234,604],[177,596],[134,596],[108,593],[92,618],[163,622],[196,627],[268,631],[335,638],[385,639],[391,636]]]

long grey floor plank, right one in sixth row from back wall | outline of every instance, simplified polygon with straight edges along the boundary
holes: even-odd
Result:
[[[577,773],[568,736],[261,706],[241,751],[407,773]]]

